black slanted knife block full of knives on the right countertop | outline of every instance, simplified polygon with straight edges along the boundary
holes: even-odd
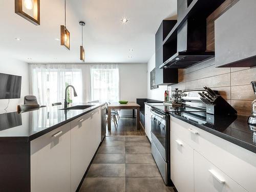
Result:
[[[206,104],[206,113],[212,115],[233,115],[237,111],[217,92],[204,87],[205,92],[198,92],[200,99]]]

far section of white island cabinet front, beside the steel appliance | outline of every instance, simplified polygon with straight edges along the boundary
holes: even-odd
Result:
[[[100,110],[71,122],[71,191],[76,191],[100,144]]]

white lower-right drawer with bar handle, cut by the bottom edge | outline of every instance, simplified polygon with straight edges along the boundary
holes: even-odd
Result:
[[[246,192],[238,183],[195,151],[195,192]]]

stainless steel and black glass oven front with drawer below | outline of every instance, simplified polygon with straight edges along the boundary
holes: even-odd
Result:
[[[167,117],[165,114],[151,109],[151,152],[158,166],[159,172],[165,182],[168,184],[168,140]]]

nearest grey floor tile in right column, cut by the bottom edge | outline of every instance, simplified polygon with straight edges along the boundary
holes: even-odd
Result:
[[[172,187],[165,186],[160,177],[126,178],[126,192],[174,192]]]

